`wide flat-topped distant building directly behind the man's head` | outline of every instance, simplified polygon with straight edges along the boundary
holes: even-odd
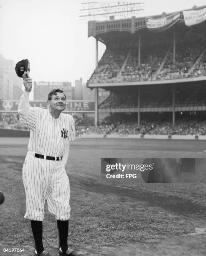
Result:
[[[71,82],[34,82],[34,100],[45,100],[53,89],[61,89],[66,95],[66,100],[72,99]]]

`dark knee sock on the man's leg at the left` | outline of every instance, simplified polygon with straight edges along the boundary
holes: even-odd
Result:
[[[42,221],[31,220],[31,229],[33,232],[36,252],[37,254],[42,253],[44,251],[43,240],[42,240],[42,233],[43,233]]]

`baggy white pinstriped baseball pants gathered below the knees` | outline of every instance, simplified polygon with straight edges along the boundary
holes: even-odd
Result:
[[[23,184],[26,194],[24,218],[43,220],[44,204],[57,220],[70,217],[69,178],[61,161],[39,159],[28,151],[23,164]]]

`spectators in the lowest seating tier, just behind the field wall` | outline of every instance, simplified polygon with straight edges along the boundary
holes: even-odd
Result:
[[[137,113],[111,113],[102,123],[89,127],[77,127],[79,134],[114,134],[127,136],[130,134],[151,135],[206,135],[206,120],[203,115],[196,118],[192,115],[177,116],[175,126],[168,120],[168,115],[162,118],[156,115],[145,115],[140,125],[137,124]]]

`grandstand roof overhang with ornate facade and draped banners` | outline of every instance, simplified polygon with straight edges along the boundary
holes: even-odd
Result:
[[[163,13],[150,17],[132,17],[120,20],[90,20],[88,22],[88,37],[93,36],[104,44],[122,38],[136,38],[137,35],[153,37],[154,33],[183,33],[193,31],[201,33],[206,37],[206,20],[202,18],[206,5],[175,13]],[[200,13],[201,12],[201,13]],[[196,16],[191,16],[196,15]],[[195,18],[194,18],[195,17]],[[201,17],[201,18],[199,18]],[[187,20],[193,19],[193,23],[188,24]],[[201,19],[201,21],[199,20]]]

